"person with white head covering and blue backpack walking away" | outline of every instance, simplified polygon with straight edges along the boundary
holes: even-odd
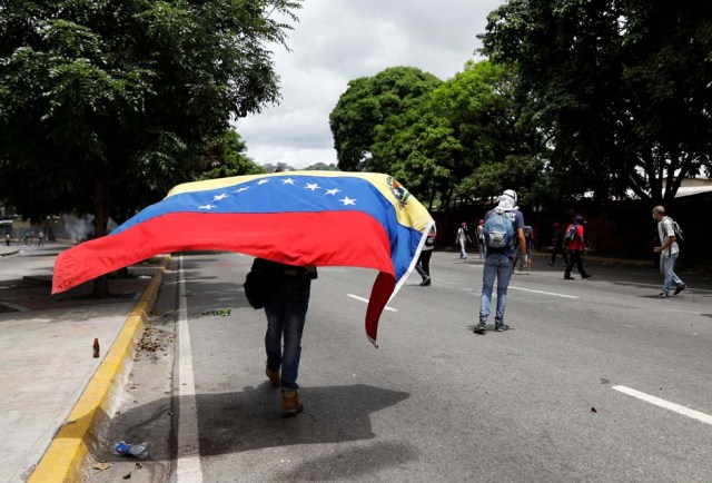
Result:
[[[497,278],[497,310],[494,317],[495,332],[508,331],[504,323],[507,304],[507,288],[512,278],[514,258],[514,237],[520,240],[522,259],[526,258],[524,240],[524,216],[516,206],[517,195],[513,189],[505,190],[496,208],[487,211],[484,218],[485,244],[487,255],[482,273],[482,296],[479,297],[479,322],[473,332],[484,335],[487,332],[487,317],[492,303],[494,279]]]

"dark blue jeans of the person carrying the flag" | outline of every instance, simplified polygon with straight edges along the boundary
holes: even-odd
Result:
[[[301,356],[301,333],[308,307],[308,292],[306,295],[287,297],[265,306],[267,367],[274,372],[279,372],[281,368],[281,388],[286,391],[299,388],[297,376]]]

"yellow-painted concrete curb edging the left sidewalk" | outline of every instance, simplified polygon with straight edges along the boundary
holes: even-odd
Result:
[[[111,348],[59,428],[28,482],[81,482],[89,463],[96,434],[111,416],[111,393],[121,385],[130,366],[144,325],[156,303],[170,255],[164,256],[159,270],[123,323]]]

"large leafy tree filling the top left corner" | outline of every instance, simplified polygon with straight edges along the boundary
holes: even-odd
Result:
[[[205,170],[196,154],[278,100],[265,42],[300,0],[8,0],[0,8],[0,193],[95,235]]]

